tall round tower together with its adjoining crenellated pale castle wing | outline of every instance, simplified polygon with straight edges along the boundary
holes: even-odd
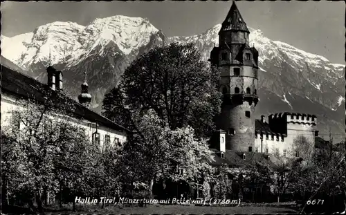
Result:
[[[219,31],[219,47],[210,53],[210,63],[221,70],[219,91],[223,94],[217,134],[212,148],[221,152],[241,151],[297,156],[314,147],[316,115],[275,113],[268,122],[254,118],[258,97],[258,57],[249,44],[249,34],[235,2]],[[298,146],[299,145],[299,146]],[[303,149],[300,148],[309,148]],[[298,149],[299,148],[299,149]],[[311,150],[310,150],[311,149]],[[313,151],[313,150],[312,150]]]

